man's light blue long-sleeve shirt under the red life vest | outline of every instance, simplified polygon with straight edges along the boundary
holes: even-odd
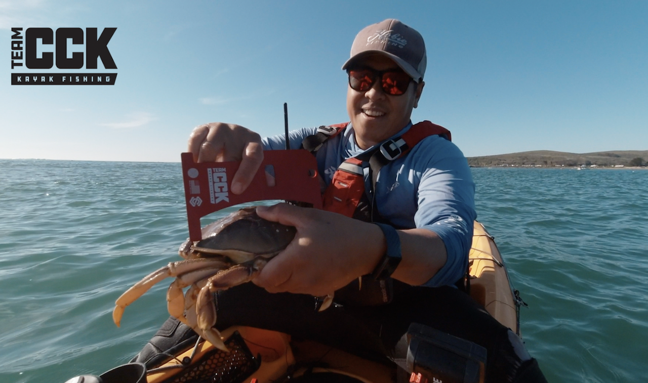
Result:
[[[410,122],[393,137],[402,135],[411,126]],[[316,132],[317,128],[290,132],[290,147],[301,147],[303,139]],[[262,143],[264,150],[286,148],[283,135],[266,137]],[[353,126],[349,124],[344,132],[318,150],[319,174],[329,184],[343,161],[362,152],[365,150],[356,145]],[[365,168],[365,190],[370,189],[369,169]],[[452,285],[466,272],[476,218],[474,192],[472,174],[463,153],[454,143],[438,135],[426,137],[407,156],[381,168],[375,190],[380,215],[395,226],[434,231],[445,244],[446,263],[425,286]]]

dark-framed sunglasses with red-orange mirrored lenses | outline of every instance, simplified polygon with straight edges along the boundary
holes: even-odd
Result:
[[[407,73],[397,69],[375,71],[374,69],[350,69],[349,86],[358,92],[366,92],[380,78],[382,91],[392,96],[400,96],[407,91],[410,82],[414,81]]]

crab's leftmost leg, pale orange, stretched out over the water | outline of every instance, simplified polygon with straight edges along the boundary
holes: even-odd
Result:
[[[117,298],[117,301],[115,301],[115,309],[113,310],[113,321],[119,327],[122,315],[124,314],[124,308],[136,301],[137,298],[143,296],[154,284],[167,277],[178,277],[179,275],[196,272],[205,268],[209,268],[213,272],[214,269],[223,269],[228,266],[229,262],[223,261],[222,259],[209,258],[170,262],[167,266],[146,275],[144,279],[135,283],[121,297]]]

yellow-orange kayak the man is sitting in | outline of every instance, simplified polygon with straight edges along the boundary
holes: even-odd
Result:
[[[519,334],[518,302],[494,237],[474,223],[469,255],[467,292],[500,323]],[[236,382],[270,383],[301,373],[338,382],[391,383],[394,366],[360,358],[339,349],[290,335],[253,327],[233,326],[221,332],[231,353],[204,341],[150,369],[148,383]],[[307,366],[307,367],[299,367]],[[300,371],[301,370],[303,371]],[[316,374],[315,374],[316,373]],[[306,381],[306,380],[305,380]]]

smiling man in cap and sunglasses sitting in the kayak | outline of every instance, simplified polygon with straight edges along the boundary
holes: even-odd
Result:
[[[258,287],[246,284],[217,295],[218,327],[266,327],[352,350],[363,343],[398,358],[397,345],[410,323],[417,322],[485,347],[487,381],[544,381],[515,334],[454,287],[467,270],[476,218],[474,183],[449,132],[430,122],[411,124],[425,85],[421,35],[395,19],[370,25],[356,36],[342,69],[349,75],[351,122],[332,137],[327,136],[331,132],[320,135],[315,145],[308,142],[317,128],[291,132],[290,146],[313,146],[327,184],[335,183],[341,163],[358,159],[354,164],[364,195],[347,215],[288,204],[257,208],[262,218],[295,226],[297,235],[253,280]],[[389,146],[411,132],[423,133],[406,139],[406,148]],[[263,150],[284,147],[284,137],[260,139],[247,128],[222,122],[198,126],[189,138],[196,161],[242,160],[231,185],[237,194],[252,180]],[[401,149],[406,153],[399,156]],[[393,281],[393,290],[382,291],[393,299],[364,305],[365,298],[354,301],[351,294],[351,304],[320,313],[312,309],[312,296],[338,291],[344,298],[343,288],[363,275],[376,277],[367,281]],[[302,315],[264,315],[283,308]],[[367,343],[365,333],[378,341]],[[522,374],[527,376],[520,380]]]

